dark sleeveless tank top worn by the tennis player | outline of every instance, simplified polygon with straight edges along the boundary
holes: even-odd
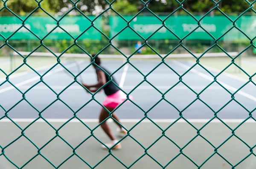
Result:
[[[100,66],[100,67],[101,67],[103,70],[105,70],[105,72],[107,72],[108,74],[111,74],[111,72],[109,72],[109,71],[108,71],[107,69],[105,69],[104,67],[102,67],[102,66]],[[96,67],[96,72],[97,72],[97,71],[102,71],[102,70],[99,69],[98,67]],[[107,81],[107,83],[108,83],[108,81],[110,81],[110,80],[109,80],[109,76],[108,76],[108,74],[106,74],[105,72],[104,72],[104,74],[105,74],[105,77],[106,77],[106,81]],[[115,79],[113,76],[111,76],[111,77],[112,77],[112,81],[118,85],[116,79]],[[104,92],[105,92],[105,94],[106,94],[107,96],[113,95],[114,93],[116,93],[116,92],[119,91],[118,87],[116,87],[116,85],[114,85],[114,83],[113,83],[112,81],[111,81],[110,83],[108,83],[108,84],[103,88],[103,89],[104,89]]]

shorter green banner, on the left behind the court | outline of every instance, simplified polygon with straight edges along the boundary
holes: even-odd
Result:
[[[25,17],[21,17],[21,18],[25,19]],[[89,18],[93,20],[94,17],[89,17]],[[60,19],[60,17],[56,19]],[[46,36],[47,33],[49,33],[50,31],[52,31],[52,29],[55,28],[56,25],[57,25],[57,22],[53,20],[51,17],[31,16],[25,22],[25,26],[40,38],[43,38],[44,36]],[[91,22],[82,16],[75,16],[75,17],[67,16],[60,21],[60,26],[75,38],[78,37],[90,25],[91,25]],[[94,22],[94,25],[99,30],[101,30],[102,28],[101,19],[98,18]],[[6,38],[9,37],[12,33],[14,33],[17,29],[19,29],[20,26],[22,26],[22,21],[19,20],[17,17],[7,17],[7,16],[0,17],[0,34],[2,34]],[[11,40],[37,40],[37,39],[38,38],[35,37],[35,35],[33,35],[31,32],[29,32],[25,28],[20,29],[17,33],[15,33],[11,37]],[[51,34],[49,34],[46,39],[70,40],[72,38],[62,29],[57,28]],[[96,29],[91,27],[81,37],[79,37],[79,40],[83,40],[83,39],[100,40],[101,34]],[[0,40],[3,40],[1,36],[0,36]]]

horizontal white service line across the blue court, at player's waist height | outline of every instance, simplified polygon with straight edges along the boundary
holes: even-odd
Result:
[[[19,89],[29,89],[31,86],[20,86]],[[52,89],[64,89],[67,86],[51,86]],[[134,89],[135,86],[123,86],[122,89]],[[157,89],[170,89],[172,86],[155,86]],[[202,90],[206,86],[190,86],[192,89],[199,89]],[[35,86],[33,89],[49,89],[47,86]],[[70,86],[68,89],[75,89],[75,90],[84,90],[81,86]],[[137,89],[142,90],[151,90],[154,89],[152,86],[139,86]],[[186,86],[175,86],[172,90],[190,90]],[[223,89],[221,86],[209,86],[207,89],[211,90],[217,90],[217,89]],[[155,89],[154,89],[155,90]]]

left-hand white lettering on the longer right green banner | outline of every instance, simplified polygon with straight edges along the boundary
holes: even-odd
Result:
[[[140,33],[153,33],[155,32],[157,29],[159,29],[161,26],[163,26],[162,24],[147,24],[147,25],[143,25],[143,24],[134,24],[134,30]],[[166,33],[166,28],[162,28],[159,31],[160,33]]]

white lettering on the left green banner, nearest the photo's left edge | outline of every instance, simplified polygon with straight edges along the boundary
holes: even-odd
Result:
[[[0,24],[0,32],[3,33],[13,33],[15,31],[17,31],[17,29],[20,28],[20,26],[22,26],[22,24]],[[25,26],[30,30],[31,26],[29,24],[25,24]],[[29,32],[26,28],[22,27],[18,32]]]

